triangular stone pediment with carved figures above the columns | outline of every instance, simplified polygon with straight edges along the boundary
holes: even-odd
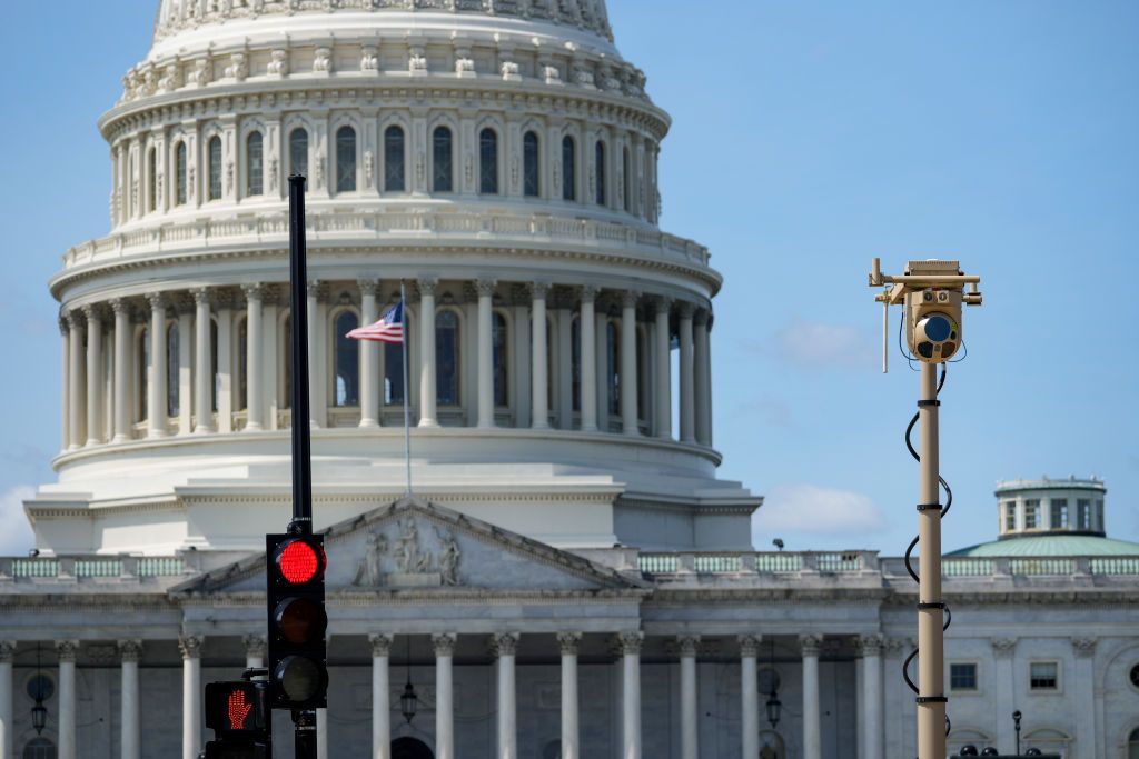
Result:
[[[329,596],[361,592],[588,592],[647,587],[637,578],[415,497],[323,530]],[[264,554],[172,593],[264,592]]]

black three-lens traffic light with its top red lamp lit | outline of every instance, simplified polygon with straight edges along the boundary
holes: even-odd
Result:
[[[265,536],[270,703],[276,709],[326,706],[325,538]]]

